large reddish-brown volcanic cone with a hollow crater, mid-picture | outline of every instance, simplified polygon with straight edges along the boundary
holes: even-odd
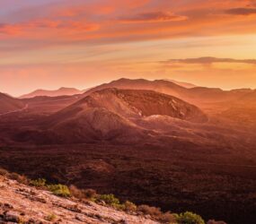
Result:
[[[140,122],[150,116],[168,116],[191,123],[207,121],[199,108],[163,93],[104,89],[49,116],[45,121],[47,131],[41,133],[41,138],[49,136],[53,142],[137,142],[155,134]],[[39,138],[37,134],[29,136]]]

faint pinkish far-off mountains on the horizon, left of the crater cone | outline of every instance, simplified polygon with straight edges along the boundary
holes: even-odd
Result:
[[[75,94],[82,94],[83,90],[77,90],[75,88],[61,87],[58,90],[34,90],[29,94],[22,95],[21,99],[34,98],[39,96],[58,97],[58,96],[70,96]]]

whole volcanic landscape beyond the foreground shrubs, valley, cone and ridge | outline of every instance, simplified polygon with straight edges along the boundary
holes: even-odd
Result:
[[[121,79],[73,96],[3,96],[1,167],[205,220],[256,220],[253,90]]]

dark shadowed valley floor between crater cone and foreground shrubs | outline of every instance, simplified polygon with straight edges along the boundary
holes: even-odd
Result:
[[[167,145],[168,142],[165,142]],[[100,194],[193,211],[204,220],[256,220],[254,151],[154,145],[73,144],[0,148],[0,167],[49,182],[92,188]],[[221,151],[221,153],[220,153]]]

